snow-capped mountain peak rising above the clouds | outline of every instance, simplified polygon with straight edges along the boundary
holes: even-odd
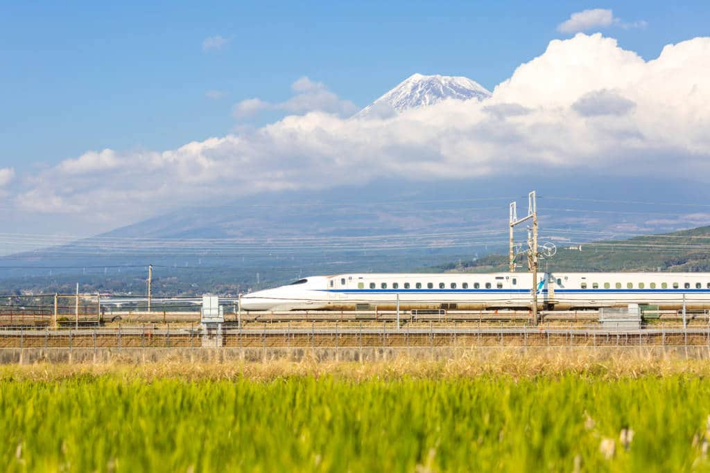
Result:
[[[481,101],[490,96],[488,89],[468,77],[413,74],[356,113],[355,118],[387,118],[411,108],[438,104],[445,99]]]

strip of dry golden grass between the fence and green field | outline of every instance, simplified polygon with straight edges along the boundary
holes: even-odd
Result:
[[[0,380],[52,381],[70,377],[119,377],[122,379],[251,379],[271,381],[286,377],[333,377],[351,381],[368,379],[453,379],[497,377],[530,379],[577,375],[594,379],[664,377],[670,375],[710,376],[707,360],[686,360],[676,355],[659,356],[636,350],[495,350],[469,352],[447,361],[411,360],[398,357],[381,362],[204,363],[168,360],[133,365],[125,362],[4,365]]]

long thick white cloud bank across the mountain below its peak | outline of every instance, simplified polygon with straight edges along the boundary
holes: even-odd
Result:
[[[302,115],[174,150],[89,151],[26,177],[16,205],[126,223],[198,199],[383,176],[589,169],[710,181],[710,38],[667,45],[645,61],[612,38],[580,33],[550,42],[490,99],[447,100],[390,118],[344,119],[341,99],[307,78],[292,89],[288,101],[251,99],[234,113]]]

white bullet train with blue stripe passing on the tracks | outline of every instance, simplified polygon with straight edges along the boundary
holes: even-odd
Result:
[[[706,272],[530,272],[488,274],[334,274],[312,276],[245,294],[245,311],[532,307],[546,310],[649,304],[660,309],[710,308]]]

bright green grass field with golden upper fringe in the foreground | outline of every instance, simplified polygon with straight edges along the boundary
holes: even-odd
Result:
[[[4,367],[0,471],[710,469],[706,362],[569,363]]]

